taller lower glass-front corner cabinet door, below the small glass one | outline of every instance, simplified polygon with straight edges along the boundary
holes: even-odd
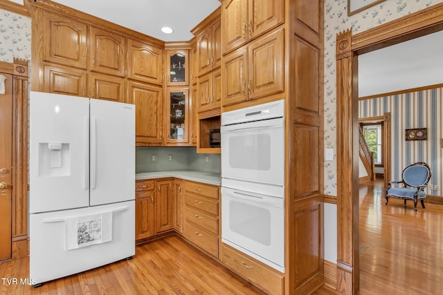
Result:
[[[168,88],[167,104],[169,115],[165,128],[167,143],[186,145],[189,142],[189,90],[187,88]]]

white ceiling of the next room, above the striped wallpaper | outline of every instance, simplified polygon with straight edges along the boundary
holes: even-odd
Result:
[[[443,83],[443,31],[359,55],[359,97]]]

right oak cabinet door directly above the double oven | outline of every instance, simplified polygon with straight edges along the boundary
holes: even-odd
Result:
[[[283,44],[282,29],[248,44],[248,99],[284,91]]]

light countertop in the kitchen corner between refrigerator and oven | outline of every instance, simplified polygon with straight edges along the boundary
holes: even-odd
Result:
[[[146,180],[154,178],[181,178],[206,184],[220,185],[220,173],[193,171],[193,170],[173,170],[136,173],[136,180]]]

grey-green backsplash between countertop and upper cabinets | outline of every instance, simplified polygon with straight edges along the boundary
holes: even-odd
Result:
[[[197,153],[195,147],[136,147],[136,173],[197,170],[220,173],[220,155]]]

